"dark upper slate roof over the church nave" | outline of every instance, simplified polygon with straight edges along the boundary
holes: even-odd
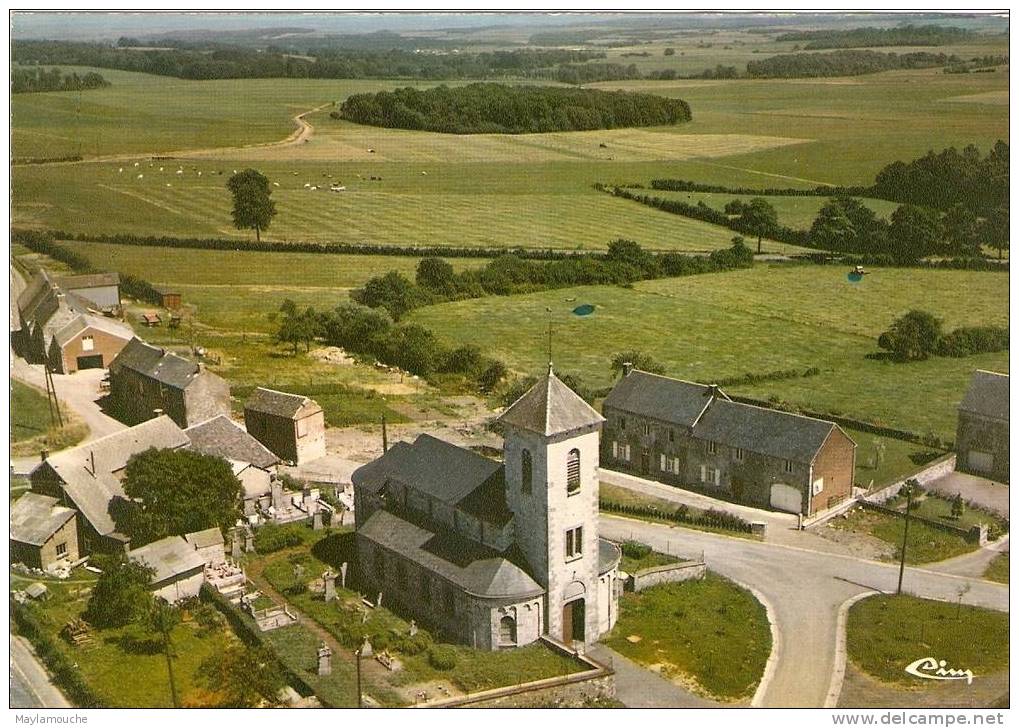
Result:
[[[358,468],[356,485],[378,491],[387,480],[397,480],[443,503],[455,506],[502,465],[430,434],[411,443],[396,443],[381,458]]]

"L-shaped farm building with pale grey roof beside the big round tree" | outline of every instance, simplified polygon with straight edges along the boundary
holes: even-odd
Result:
[[[120,481],[127,461],[149,448],[177,449],[187,443],[169,417],[157,417],[46,457],[29,476],[32,491],[82,514],[76,544],[81,554],[119,551],[129,539],[117,532],[110,505],[125,498]]]

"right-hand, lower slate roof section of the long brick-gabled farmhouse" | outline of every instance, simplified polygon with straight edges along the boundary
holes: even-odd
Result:
[[[693,435],[773,458],[810,463],[836,427],[834,422],[813,417],[715,400],[694,426]]]

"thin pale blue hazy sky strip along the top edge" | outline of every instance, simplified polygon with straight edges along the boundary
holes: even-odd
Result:
[[[712,16],[746,15],[754,17],[785,17],[794,14],[806,16],[874,16],[889,18],[947,18],[952,16],[1007,17],[1000,12],[977,11],[908,11],[893,13],[878,11],[790,11],[712,10],[712,11],[658,11],[627,12],[625,10],[538,11],[520,12],[462,12],[457,10],[432,12],[400,11],[21,11],[11,12],[11,37],[16,40],[54,41],[112,41],[121,36],[155,36],[167,33],[231,33],[274,28],[308,29],[326,34],[369,34],[379,31],[393,33],[434,33],[442,30],[469,30],[512,27],[556,27],[604,23],[626,18],[630,22],[647,22],[658,18],[687,17],[703,20]],[[201,19],[198,19],[201,18]],[[677,23],[679,24],[679,23]],[[697,23],[700,24],[700,23]]]

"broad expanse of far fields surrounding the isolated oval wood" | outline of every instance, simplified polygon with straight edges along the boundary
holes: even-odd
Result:
[[[458,137],[381,129],[331,119],[326,107],[308,117],[315,134],[305,144],[242,149],[281,140],[300,111],[392,84],[123,75],[112,74],[110,89],[82,95],[83,109],[91,109],[89,133],[99,140],[84,143],[85,153],[139,154],[140,167],[119,159],[17,166],[15,224],[243,238],[230,223],[224,183],[232,169],[250,165],[279,183],[279,215],[268,230],[274,240],[599,249],[625,237],[647,248],[706,251],[727,246],[732,232],[614,200],[592,185],[660,176],[750,187],[869,184],[896,159],[949,145],[985,150],[1008,138],[1008,106],[1001,103],[1007,68],[597,84],[684,98],[694,119],[574,134]],[[39,135],[73,138],[75,123],[84,128],[72,113],[76,95],[24,96],[32,98],[14,100],[15,156],[66,152],[59,140],[30,142],[45,139]],[[228,149],[153,167],[141,156],[217,147]],[[177,165],[180,175],[173,173]],[[323,189],[334,181],[346,191]],[[766,249],[790,250],[775,244]]]

